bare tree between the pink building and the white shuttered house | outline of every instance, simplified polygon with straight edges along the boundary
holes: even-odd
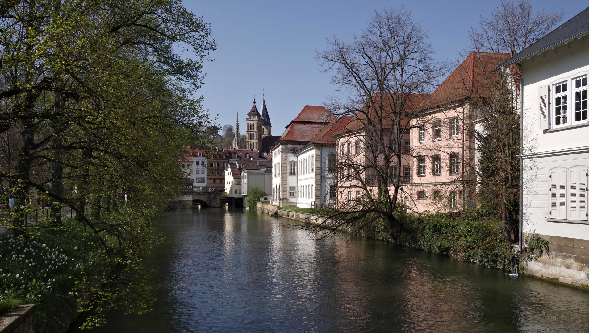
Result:
[[[515,55],[547,34],[561,21],[562,12],[534,14],[529,0],[502,1],[489,18],[481,18],[470,32],[473,51],[493,52],[497,62]],[[481,61],[481,59],[477,59]],[[487,73],[491,68],[487,64]],[[509,70],[518,74],[516,66]],[[478,143],[479,204],[497,212],[504,221],[505,238],[517,242],[519,235],[519,174],[521,136],[519,127],[519,80],[511,76],[485,75],[488,94],[473,101],[478,126],[471,135]]]

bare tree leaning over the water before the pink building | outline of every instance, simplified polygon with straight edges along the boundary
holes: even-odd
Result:
[[[325,213],[319,228],[357,228],[382,223],[394,227],[410,165],[411,128],[422,115],[418,105],[445,74],[435,61],[428,31],[410,12],[375,12],[362,35],[351,43],[337,37],[319,52],[324,71],[346,98],[331,98],[326,107],[352,120],[338,135],[335,209]],[[318,230],[316,228],[315,230]]]

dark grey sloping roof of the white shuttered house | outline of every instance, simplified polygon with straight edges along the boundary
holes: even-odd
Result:
[[[589,34],[589,7],[540,38],[540,40],[534,44],[507,59],[507,61],[503,62],[501,65],[493,68],[492,71],[497,71],[501,66],[507,67],[509,65],[517,64],[519,61],[531,58],[534,55],[541,54],[542,52],[553,49],[558,45],[573,41],[575,38],[581,38],[587,34]]]

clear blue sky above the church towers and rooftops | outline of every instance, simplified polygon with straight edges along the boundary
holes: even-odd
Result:
[[[211,24],[217,51],[204,65],[203,106],[219,115],[220,125],[245,132],[245,115],[262,89],[272,120],[272,134],[281,135],[305,105],[321,105],[336,86],[329,74],[319,72],[316,51],[325,38],[337,35],[349,41],[360,34],[375,9],[405,5],[423,28],[431,32],[436,57],[456,59],[468,48],[468,32],[501,4],[492,1],[185,1],[189,11]],[[564,11],[564,21],[583,11],[587,1],[532,0],[532,9]],[[561,23],[562,23],[561,22]]]

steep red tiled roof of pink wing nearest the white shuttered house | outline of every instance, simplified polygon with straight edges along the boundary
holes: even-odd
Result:
[[[486,96],[488,78],[497,75],[489,71],[509,56],[508,53],[471,52],[420,107],[429,109],[470,96]]]

